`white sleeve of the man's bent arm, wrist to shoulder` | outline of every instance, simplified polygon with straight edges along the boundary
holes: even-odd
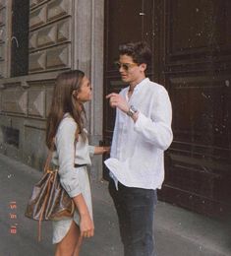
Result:
[[[151,117],[148,118],[142,112],[139,112],[138,120],[135,123],[135,131],[141,134],[145,141],[155,145],[156,148],[166,150],[173,139],[171,121],[171,102],[166,90],[162,89],[156,97]]]

